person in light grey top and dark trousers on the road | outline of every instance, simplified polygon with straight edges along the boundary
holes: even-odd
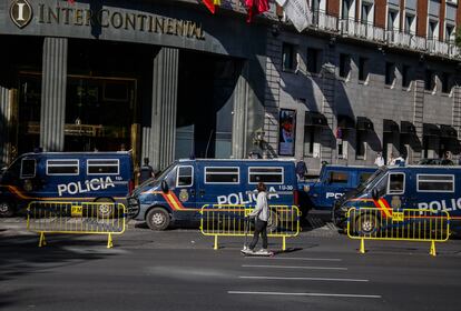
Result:
[[[249,243],[248,249],[251,252],[254,252],[261,234],[261,238],[263,239],[263,249],[261,252],[267,253],[267,220],[269,211],[267,205],[266,185],[264,182],[259,182],[257,184],[257,191],[258,193],[256,199],[256,207],[248,215],[249,218],[255,219],[255,232],[253,235],[253,241]]]

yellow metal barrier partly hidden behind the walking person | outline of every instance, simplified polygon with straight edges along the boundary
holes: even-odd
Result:
[[[200,210],[200,231],[204,235],[215,237],[215,250],[218,249],[218,237],[253,235],[253,228],[245,225],[253,209],[237,204],[206,204]],[[269,205],[269,210],[267,237],[282,238],[282,249],[286,250],[286,238],[300,234],[300,209],[294,205]]]

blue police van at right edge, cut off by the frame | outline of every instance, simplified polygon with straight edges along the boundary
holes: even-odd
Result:
[[[335,223],[346,225],[350,208],[377,208],[381,215],[394,209],[429,209],[448,211],[451,229],[460,231],[461,224],[461,167],[396,165],[383,168],[354,195],[340,199],[334,208]],[[380,219],[351,220],[367,232],[379,228]],[[359,224],[357,224],[359,225]],[[356,225],[355,225],[356,227]]]

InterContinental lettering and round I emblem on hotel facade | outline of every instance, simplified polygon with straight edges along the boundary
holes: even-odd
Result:
[[[38,24],[100,27],[205,40],[202,24],[194,21],[115,9],[90,10],[60,7],[59,3],[56,7],[45,3],[36,6],[37,8],[32,8],[28,0],[13,0],[10,7],[11,20],[21,29],[35,19]]]

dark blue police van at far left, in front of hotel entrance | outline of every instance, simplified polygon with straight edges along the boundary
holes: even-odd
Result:
[[[0,177],[0,215],[23,212],[36,200],[126,202],[133,178],[129,151],[24,153]],[[110,205],[98,213],[111,213]]]

